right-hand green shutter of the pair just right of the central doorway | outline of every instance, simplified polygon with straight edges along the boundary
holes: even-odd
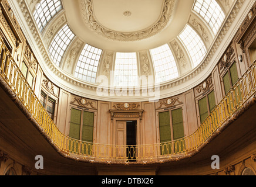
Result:
[[[173,140],[184,137],[183,114],[182,108],[171,111],[173,122]]]

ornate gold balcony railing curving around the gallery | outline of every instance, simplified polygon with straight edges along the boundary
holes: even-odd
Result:
[[[61,133],[49,117],[48,112],[41,105],[25,77],[23,77],[22,72],[19,70],[18,65],[16,65],[1,38],[0,74],[59,150],[71,157],[113,162],[159,161],[164,158],[170,159],[176,155],[191,153],[191,151],[196,150],[205,143],[207,138],[211,137],[226,120],[230,119],[251,98],[255,93],[256,87],[256,65],[254,62],[195,133],[180,140],[167,143],[117,146],[75,140]]]

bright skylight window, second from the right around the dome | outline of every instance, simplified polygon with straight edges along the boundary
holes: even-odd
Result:
[[[178,37],[184,43],[184,46],[186,46],[194,68],[197,67],[206,56],[206,47],[204,46],[203,40],[189,25],[185,27]]]

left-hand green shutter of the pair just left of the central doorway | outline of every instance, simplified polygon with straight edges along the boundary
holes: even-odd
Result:
[[[80,139],[81,110],[71,109],[69,137]]]

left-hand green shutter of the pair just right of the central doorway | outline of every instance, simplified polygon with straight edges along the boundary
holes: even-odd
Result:
[[[173,152],[171,149],[171,144],[166,143],[171,141],[171,122],[169,111],[159,113],[159,131],[161,155],[171,154]]]

